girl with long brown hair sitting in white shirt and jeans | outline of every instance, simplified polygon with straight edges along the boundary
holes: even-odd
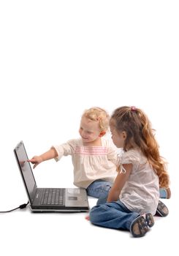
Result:
[[[107,203],[94,206],[90,220],[94,225],[130,230],[132,236],[141,237],[154,225],[159,187],[169,185],[167,165],[159,154],[151,122],[139,108],[117,108],[110,118],[110,131],[123,154]]]

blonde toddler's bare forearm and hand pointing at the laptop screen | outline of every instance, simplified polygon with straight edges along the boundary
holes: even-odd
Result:
[[[37,165],[39,165],[41,162],[47,161],[49,159],[53,159],[55,157],[57,157],[58,154],[56,152],[55,148],[50,148],[49,151],[45,152],[44,154],[41,154],[40,156],[34,156],[32,157],[32,159],[28,159],[28,162],[31,162],[34,167],[37,167]]]

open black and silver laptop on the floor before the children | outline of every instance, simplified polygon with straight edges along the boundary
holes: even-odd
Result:
[[[38,188],[31,170],[23,141],[14,149],[15,158],[23,178],[31,211],[78,212],[89,211],[88,197],[82,188]]]

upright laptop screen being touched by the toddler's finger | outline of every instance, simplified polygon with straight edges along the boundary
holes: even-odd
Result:
[[[26,154],[26,149],[23,145],[23,141],[20,141],[20,143],[18,143],[18,146],[16,146],[16,148],[14,149],[14,153],[15,153],[15,158],[18,162],[20,173],[23,177],[23,182],[28,192],[28,199],[32,203],[34,198],[34,192],[35,192],[35,189],[37,188],[37,185],[31,170],[31,165],[29,162],[26,162],[28,157]]]

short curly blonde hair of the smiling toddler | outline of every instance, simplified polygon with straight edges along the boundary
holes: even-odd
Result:
[[[109,128],[110,116],[106,110],[102,108],[89,108],[84,111],[83,116],[89,118],[91,121],[99,121],[99,128],[101,132],[106,131]]]

